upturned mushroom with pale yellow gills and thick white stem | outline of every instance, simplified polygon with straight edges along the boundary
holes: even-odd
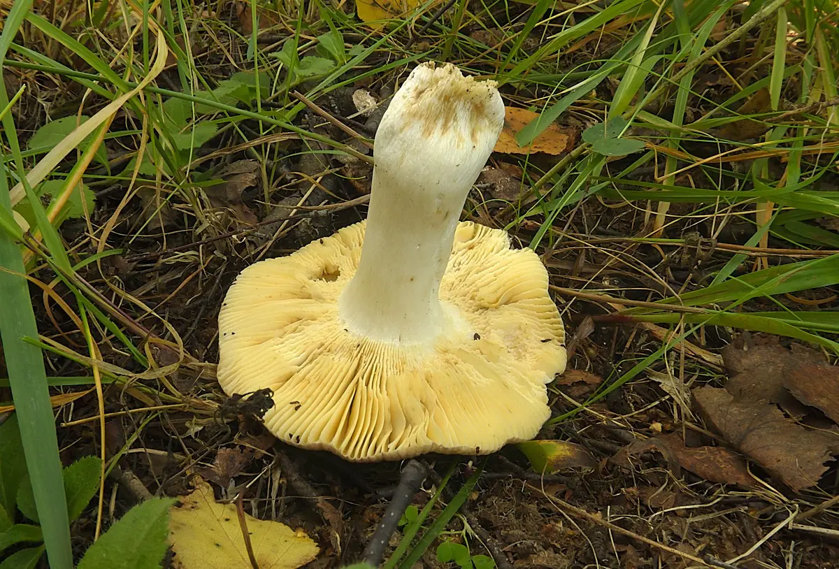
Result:
[[[367,221],[237,277],[217,377],[274,391],[275,436],[372,462],[487,454],[548,419],[566,355],[545,266],[458,222],[503,120],[494,82],[419,65],[376,133]]]

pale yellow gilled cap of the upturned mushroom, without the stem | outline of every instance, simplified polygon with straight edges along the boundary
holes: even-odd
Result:
[[[365,223],[239,274],[219,315],[221,387],[272,389],[263,421],[274,436],[356,462],[488,454],[533,438],[550,416],[545,384],[566,362],[536,253],[460,222],[440,282],[444,331],[381,342],[347,331],[338,311]]]

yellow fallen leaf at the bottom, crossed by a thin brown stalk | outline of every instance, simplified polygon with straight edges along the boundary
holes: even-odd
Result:
[[[172,508],[169,542],[176,569],[251,569],[234,504],[217,504],[210,484],[196,478],[195,492]],[[314,560],[318,546],[302,530],[245,514],[260,569],[296,569]]]

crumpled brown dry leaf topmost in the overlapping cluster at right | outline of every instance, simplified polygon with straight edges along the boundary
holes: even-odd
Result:
[[[737,401],[766,400],[777,403],[789,415],[805,415],[805,408],[784,388],[784,370],[804,363],[821,363],[820,352],[793,344],[788,350],[776,337],[766,343],[743,347],[729,345],[722,350],[722,359],[732,377],[726,383],[728,393]]]

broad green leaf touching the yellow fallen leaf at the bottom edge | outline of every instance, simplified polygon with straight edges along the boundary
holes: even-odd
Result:
[[[169,508],[153,498],[128,510],[81,558],[77,569],[159,569],[169,545]]]

